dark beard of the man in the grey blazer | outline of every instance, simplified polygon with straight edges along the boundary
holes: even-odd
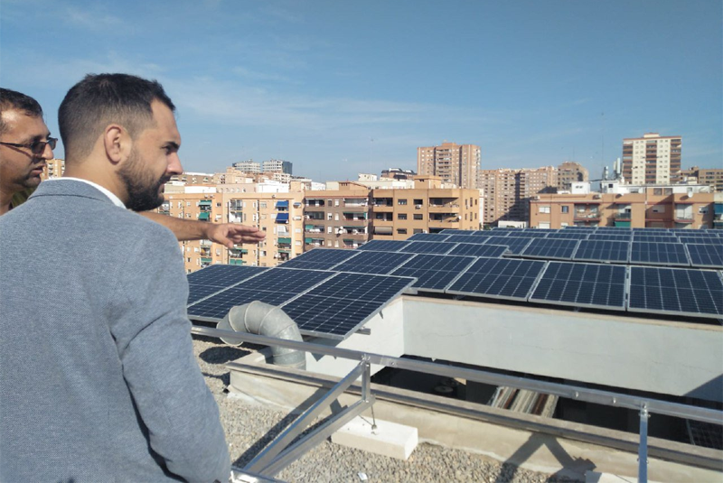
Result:
[[[158,208],[164,202],[161,186],[170,181],[171,177],[164,175],[155,178],[153,172],[144,169],[145,164],[134,146],[128,162],[118,170],[118,175],[126,186],[127,209],[148,211]]]

